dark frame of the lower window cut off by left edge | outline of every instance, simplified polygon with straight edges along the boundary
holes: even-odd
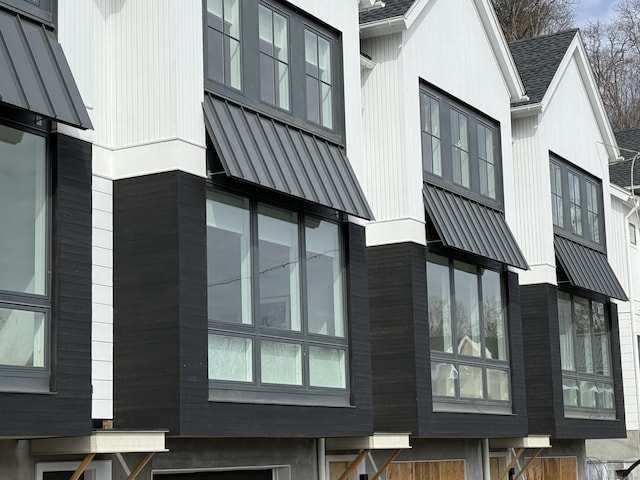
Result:
[[[30,294],[0,290],[0,308],[22,310],[43,314],[44,318],[44,366],[21,367],[0,365],[0,392],[49,393],[51,391],[51,373],[53,365],[53,185],[52,185],[52,145],[51,121],[30,112],[19,112],[13,109],[0,108],[0,124],[45,139],[45,201],[46,236],[45,236],[45,293]]]

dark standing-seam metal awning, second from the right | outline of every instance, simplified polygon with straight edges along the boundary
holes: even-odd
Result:
[[[423,196],[444,245],[523,270],[529,268],[502,212],[426,183]]]

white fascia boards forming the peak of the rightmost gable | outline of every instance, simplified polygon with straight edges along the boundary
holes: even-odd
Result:
[[[553,95],[558,89],[558,86],[562,81],[562,77],[573,59],[575,59],[576,65],[578,66],[578,71],[580,72],[580,77],[582,78],[585,90],[587,91],[587,96],[591,102],[596,122],[598,127],[600,127],[600,132],[604,139],[604,146],[607,150],[609,161],[613,162],[620,156],[620,151],[618,150],[618,144],[616,142],[615,135],[613,134],[611,124],[609,123],[609,117],[604,109],[600,92],[598,91],[593,72],[591,71],[591,65],[587,59],[587,52],[584,48],[584,43],[582,42],[582,37],[579,31],[571,41],[571,44],[569,45],[562,62],[560,62],[558,70],[556,70],[553,80],[551,80],[549,88],[547,88],[541,103],[548,105],[549,102],[552,101]]]

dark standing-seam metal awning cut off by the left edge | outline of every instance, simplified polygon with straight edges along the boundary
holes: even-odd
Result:
[[[0,104],[93,128],[53,31],[0,9]]]

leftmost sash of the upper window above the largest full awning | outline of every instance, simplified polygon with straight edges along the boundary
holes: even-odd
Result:
[[[207,0],[208,76],[230,87],[242,86],[240,1]]]

